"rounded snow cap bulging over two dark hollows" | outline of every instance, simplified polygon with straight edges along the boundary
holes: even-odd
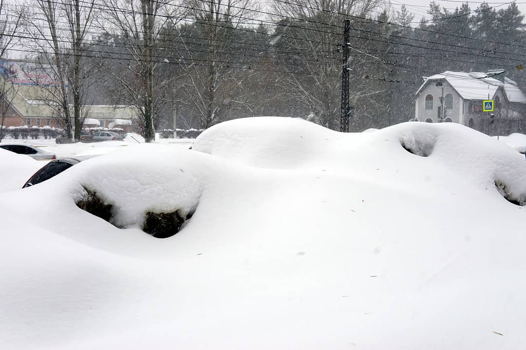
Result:
[[[72,167],[69,181],[80,186],[74,187],[74,200],[96,195],[112,207],[109,221],[119,228],[141,225],[147,213],[177,211],[181,217],[193,213],[203,185],[175,162],[171,147],[151,148],[129,146],[131,150],[113,151]]]

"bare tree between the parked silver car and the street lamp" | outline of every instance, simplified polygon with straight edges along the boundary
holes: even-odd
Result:
[[[159,36],[165,27],[176,26],[184,8],[170,0],[103,3],[98,26],[115,43],[115,50],[109,50],[114,60],[104,61],[103,67],[120,88],[114,91],[114,103],[135,106],[141,134],[146,142],[153,141],[160,111],[173,101],[175,83],[166,72],[174,63],[165,57]]]

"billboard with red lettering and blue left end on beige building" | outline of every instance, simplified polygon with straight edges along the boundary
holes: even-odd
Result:
[[[55,70],[49,65],[0,60],[0,75],[12,84],[28,86],[59,86]]]

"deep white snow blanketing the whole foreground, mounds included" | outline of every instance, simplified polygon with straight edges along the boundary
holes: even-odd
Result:
[[[524,156],[454,123],[119,146],[0,195],[0,348],[521,348],[525,201]],[[175,236],[140,229],[175,209]]]

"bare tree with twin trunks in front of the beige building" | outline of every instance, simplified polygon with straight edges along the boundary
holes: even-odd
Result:
[[[81,5],[82,3],[82,5]],[[86,60],[83,60],[86,34],[94,16],[94,0],[34,0],[28,15],[28,43],[35,54],[30,56],[44,73],[34,82],[42,88],[39,99],[54,110],[68,137],[78,141],[84,116],[82,112],[83,85],[86,80]],[[35,56],[36,55],[36,56]],[[31,66],[28,66],[31,67]],[[33,69],[33,68],[29,68]],[[54,84],[48,84],[49,80]],[[70,110],[72,97],[73,111]]]

